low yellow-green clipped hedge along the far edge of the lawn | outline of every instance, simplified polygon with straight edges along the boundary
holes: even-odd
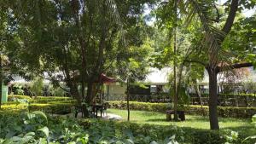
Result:
[[[126,109],[126,101],[108,101],[110,108]],[[166,112],[170,109],[167,103],[148,103],[130,101],[131,110]],[[209,108],[207,106],[189,105],[185,108],[188,114],[208,115]],[[252,118],[256,113],[256,107],[218,107],[218,116],[229,118]]]

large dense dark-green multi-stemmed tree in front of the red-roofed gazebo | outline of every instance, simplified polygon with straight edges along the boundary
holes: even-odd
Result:
[[[71,94],[90,104],[92,87],[108,72],[123,43],[150,1],[15,1],[9,3],[22,42],[20,63],[34,73],[63,80]],[[32,9],[36,7],[37,9]],[[134,37],[134,36],[133,36]],[[40,52],[40,53],[38,53]],[[58,74],[56,74],[58,73]],[[57,83],[56,83],[57,84]],[[82,85],[79,95],[78,85]],[[84,87],[87,85],[85,95]]]

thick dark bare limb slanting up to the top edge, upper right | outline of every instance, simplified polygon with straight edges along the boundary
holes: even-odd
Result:
[[[236,17],[236,11],[238,8],[238,1],[239,0],[232,0],[231,6],[230,6],[230,13],[226,20],[226,23],[222,29],[223,32],[229,33],[231,30],[231,27],[234,23],[235,17]]]

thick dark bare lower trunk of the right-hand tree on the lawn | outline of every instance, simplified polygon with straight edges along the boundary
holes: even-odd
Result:
[[[209,74],[209,118],[211,130],[219,130],[218,126],[218,94],[217,94],[217,75],[216,69],[208,68]]]

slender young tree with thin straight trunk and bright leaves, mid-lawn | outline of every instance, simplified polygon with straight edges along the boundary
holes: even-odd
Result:
[[[144,27],[142,27],[143,29]],[[141,32],[139,32],[141,33]],[[154,49],[152,48],[152,41],[148,37],[143,40],[142,45],[136,46],[131,43],[119,55],[122,57],[118,60],[117,70],[122,83],[126,84],[126,101],[127,101],[127,120],[130,121],[130,88],[131,84],[138,85],[147,89],[140,81],[143,81],[149,73],[149,58]]]

